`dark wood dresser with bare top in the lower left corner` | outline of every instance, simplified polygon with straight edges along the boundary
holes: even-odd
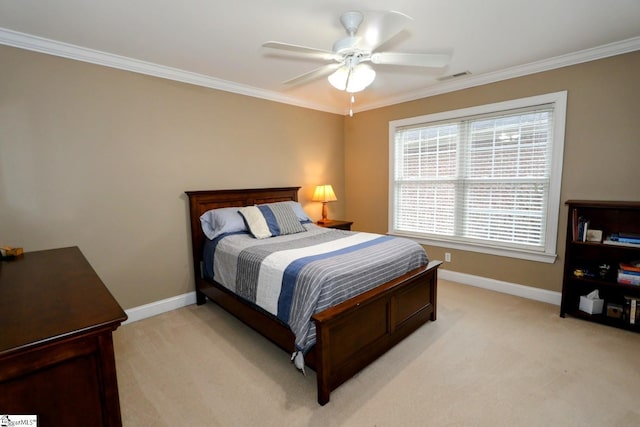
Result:
[[[0,414],[122,425],[112,332],[126,319],[77,247],[0,262]]]

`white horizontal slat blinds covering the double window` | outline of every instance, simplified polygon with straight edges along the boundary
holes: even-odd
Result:
[[[395,129],[395,231],[544,250],[554,104]]]

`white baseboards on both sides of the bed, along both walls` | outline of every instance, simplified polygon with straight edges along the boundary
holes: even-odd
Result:
[[[438,270],[438,277],[445,280],[451,280],[452,282],[462,283],[463,285],[476,286],[478,288],[490,289],[504,294],[560,305],[560,292],[547,291],[545,289],[533,288],[531,286],[502,282],[500,280],[487,279],[486,277],[473,276],[471,274],[458,273],[443,269]],[[129,319],[127,319],[123,325],[146,319],[147,317],[157,316],[158,314],[176,310],[195,303],[196,293],[194,291],[141,305],[139,307],[130,308],[129,310],[125,310]]]

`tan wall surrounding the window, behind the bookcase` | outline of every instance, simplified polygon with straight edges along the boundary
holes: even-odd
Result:
[[[389,121],[544,93],[568,91],[561,201],[640,200],[640,52],[424,98],[345,119],[347,217],[354,228],[386,232]],[[560,291],[567,209],[555,264],[446,249],[443,267]],[[444,248],[427,247],[432,259]]]

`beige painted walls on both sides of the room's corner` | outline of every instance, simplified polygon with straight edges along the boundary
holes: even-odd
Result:
[[[330,216],[387,231],[390,120],[567,90],[562,201],[640,200],[640,52],[352,118],[0,46],[0,244],[77,245],[126,309],[193,289],[185,190],[334,185]],[[559,291],[555,264],[449,270]],[[445,249],[428,247],[432,259]]]

